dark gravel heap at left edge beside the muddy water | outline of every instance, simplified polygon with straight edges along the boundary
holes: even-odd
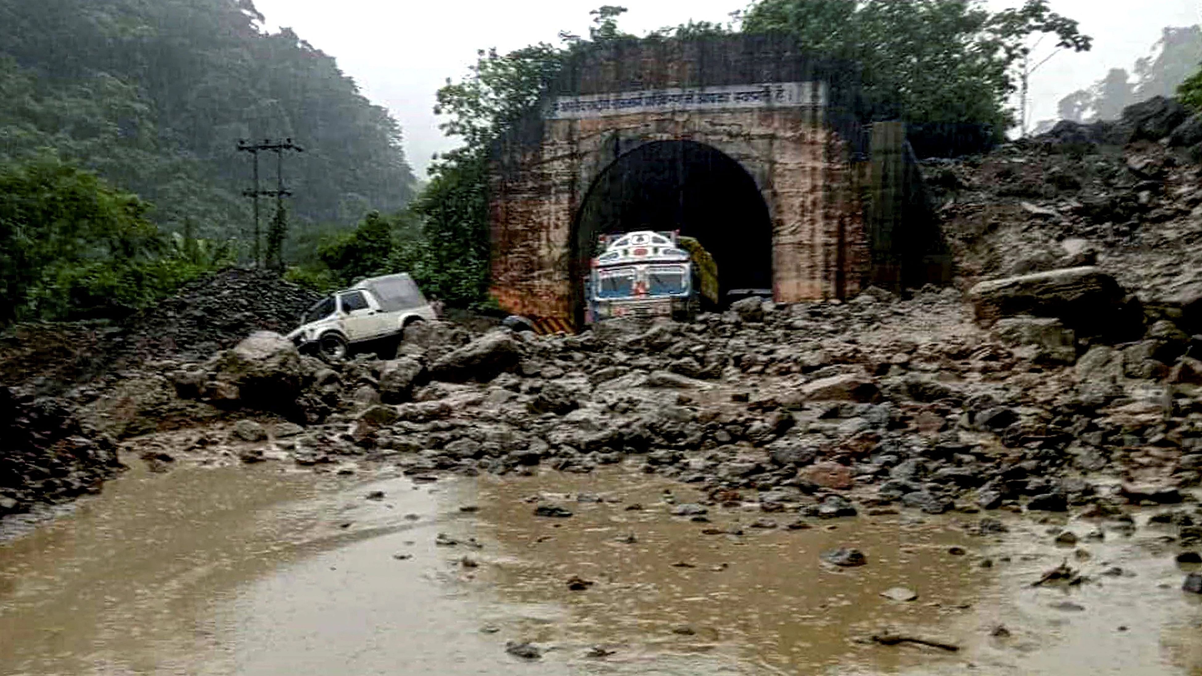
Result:
[[[114,444],[72,407],[0,387],[0,516],[100,490],[121,469]]]

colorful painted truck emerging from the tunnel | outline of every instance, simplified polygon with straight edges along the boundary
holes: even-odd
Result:
[[[690,320],[718,304],[718,267],[692,238],[641,230],[603,235],[585,280],[585,324],[611,318]]]

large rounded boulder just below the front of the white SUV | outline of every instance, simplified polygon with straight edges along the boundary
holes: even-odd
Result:
[[[300,354],[291,340],[258,331],[231,350],[218,352],[209,364],[215,384],[245,408],[294,413],[304,380]]]

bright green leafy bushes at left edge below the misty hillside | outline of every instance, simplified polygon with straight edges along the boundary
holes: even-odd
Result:
[[[162,238],[149,208],[55,156],[0,165],[0,324],[112,315],[230,261],[228,247]]]

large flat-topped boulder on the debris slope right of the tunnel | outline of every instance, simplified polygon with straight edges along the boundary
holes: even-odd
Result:
[[[969,290],[976,318],[1055,318],[1079,336],[1142,333],[1143,314],[1113,277],[1091,266],[982,281]]]

